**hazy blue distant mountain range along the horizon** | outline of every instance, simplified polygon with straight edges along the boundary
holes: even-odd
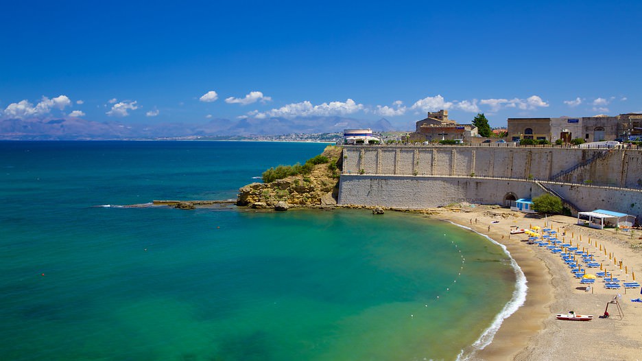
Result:
[[[85,119],[0,120],[0,139],[158,139],[174,137],[251,137],[292,133],[342,132],[350,128],[371,128],[375,132],[395,130],[385,119],[368,121],[344,117],[269,119],[212,119],[204,124],[125,124],[121,121]]]

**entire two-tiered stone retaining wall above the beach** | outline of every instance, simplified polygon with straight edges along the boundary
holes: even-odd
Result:
[[[338,202],[406,209],[461,201],[506,205],[507,198],[543,194],[538,179],[581,211],[610,209],[640,221],[641,178],[639,150],[346,147]]]

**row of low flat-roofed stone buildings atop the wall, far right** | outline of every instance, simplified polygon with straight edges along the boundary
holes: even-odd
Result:
[[[508,138],[545,139],[554,143],[558,139],[571,141],[581,138],[586,142],[628,140],[642,135],[642,114],[628,113],[615,117],[559,118],[508,118]]]

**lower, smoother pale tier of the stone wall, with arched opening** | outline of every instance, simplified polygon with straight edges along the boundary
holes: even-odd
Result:
[[[542,182],[583,211],[609,209],[642,220],[642,190]],[[341,176],[338,204],[425,209],[455,202],[508,205],[506,198],[534,198],[545,191],[531,180],[463,176]]]

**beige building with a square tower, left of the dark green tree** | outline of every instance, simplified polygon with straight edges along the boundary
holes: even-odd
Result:
[[[457,121],[448,118],[448,110],[439,110],[436,113],[428,113],[425,119],[416,123],[416,130],[410,133],[409,140],[417,141],[440,141],[444,139],[462,139],[470,141],[477,137],[477,127],[472,124],[457,124]]]

